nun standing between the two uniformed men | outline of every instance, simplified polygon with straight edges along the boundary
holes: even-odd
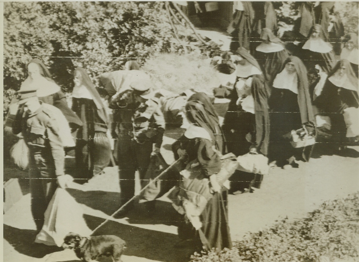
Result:
[[[101,173],[110,162],[108,117],[101,97],[84,68],[76,68],[74,83],[72,109],[83,122],[77,132],[75,161],[78,178],[90,179]]]

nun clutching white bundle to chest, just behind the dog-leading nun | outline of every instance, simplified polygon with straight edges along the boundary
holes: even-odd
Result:
[[[234,84],[222,126],[228,151],[236,156],[250,150],[267,155],[269,143],[269,87],[256,59],[244,48],[237,52],[237,80]],[[257,178],[257,180],[256,180]],[[261,176],[236,171],[231,177],[231,191],[259,188]],[[257,182],[257,183],[256,183]]]

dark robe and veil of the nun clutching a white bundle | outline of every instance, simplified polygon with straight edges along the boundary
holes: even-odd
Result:
[[[255,103],[255,113],[244,111],[241,106],[236,105],[238,94],[236,88],[234,88],[230,94],[231,101],[222,126],[228,151],[236,156],[247,154],[250,147],[256,147],[257,152],[263,155],[268,153],[269,90],[262,75],[253,75],[251,77],[251,93]],[[250,188],[250,185],[260,188],[262,176],[236,171],[230,180],[231,191],[243,191],[244,188]]]

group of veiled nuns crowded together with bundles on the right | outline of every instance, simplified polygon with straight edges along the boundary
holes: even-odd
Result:
[[[290,143],[292,130],[303,126],[317,142],[330,142],[322,144],[337,154],[358,144],[359,134],[348,136],[344,116],[348,108],[358,111],[358,35],[344,35],[342,28],[340,41],[334,41],[324,24],[308,28],[307,38],[286,31],[281,40],[275,28],[261,28],[260,37],[232,39],[231,47],[240,47],[214,63],[218,71],[236,76],[222,126],[228,151],[237,156],[256,151],[271,165],[288,169],[311,157],[314,145]]]

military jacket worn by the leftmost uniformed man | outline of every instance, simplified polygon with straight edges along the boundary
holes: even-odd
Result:
[[[33,113],[20,108],[13,124],[13,133],[20,132],[29,147],[30,157],[34,157],[40,171],[55,169],[56,175],[64,174],[64,147],[59,136],[59,126],[50,110],[42,105]],[[45,171],[41,175],[50,176],[51,173]]]

